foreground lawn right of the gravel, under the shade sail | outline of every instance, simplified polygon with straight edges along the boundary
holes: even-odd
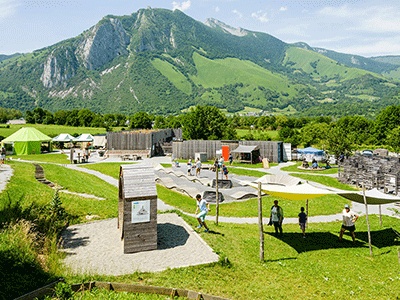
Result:
[[[182,216],[192,227],[196,220]],[[303,239],[297,224],[284,225],[283,239],[264,226],[264,261],[259,261],[258,225],[209,222],[201,237],[221,257],[218,263],[124,276],[66,276],[88,280],[185,288],[229,299],[396,299],[400,295],[397,247],[390,226],[398,220],[384,217],[385,227],[371,216],[374,256],[370,257],[366,222],[357,221],[357,243],[350,236],[338,243],[340,222],[309,224]],[[346,267],[351,264],[350,267]],[[379,270],[379,274],[377,274]],[[94,298],[92,298],[94,299]]]

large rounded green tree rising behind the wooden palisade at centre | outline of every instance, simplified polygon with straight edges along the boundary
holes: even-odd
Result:
[[[189,140],[218,140],[232,134],[232,129],[218,108],[197,105],[185,116],[182,134]]]

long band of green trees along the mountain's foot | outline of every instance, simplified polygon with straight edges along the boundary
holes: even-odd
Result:
[[[8,116],[19,117],[16,110],[0,109],[1,121]],[[137,112],[131,116],[121,113],[101,115],[88,109],[60,110],[55,113],[40,107],[26,111],[25,119],[32,124],[55,124],[65,126],[114,127],[127,129],[182,128],[185,139],[238,139],[236,129],[254,128],[261,132],[259,138],[271,140],[265,130],[278,130],[278,139],[291,143],[292,147],[317,146],[333,154],[350,152],[362,146],[386,146],[400,152],[400,106],[391,105],[375,118],[349,115],[334,119],[331,116],[288,117],[271,116],[226,116],[214,106],[197,105],[186,114],[178,116],[151,115]],[[251,131],[244,139],[254,139]]]

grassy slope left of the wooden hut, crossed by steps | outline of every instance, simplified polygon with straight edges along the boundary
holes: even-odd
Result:
[[[35,167],[31,163],[11,161],[14,175],[7,185],[7,192],[0,194],[0,203],[4,203],[10,195],[12,200],[22,199],[28,206],[32,202],[46,205],[53,198],[55,190],[35,179]],[[77,195],[59,193],[66,211],[74,218],[74,223],[86,222],[88,214],[100,218],[116,217],[118,213],[118,188],[106,183],[98,177],[70,170],[62,166],[42,164],[46,179],[57,183],[71,192],[86,193],[106,200],[84,198]],[[1,207],[1,206],[0,206]]]

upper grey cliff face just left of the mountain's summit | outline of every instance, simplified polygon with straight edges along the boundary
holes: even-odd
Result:
[[[76,55],[89,70],[95,70],[118,55],[128,53],[130,37],[118,19],[103,19],[78,42]]]

